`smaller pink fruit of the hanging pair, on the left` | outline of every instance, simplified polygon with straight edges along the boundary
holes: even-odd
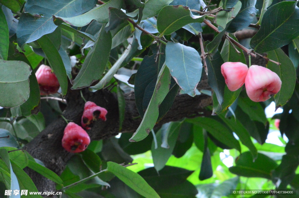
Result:
[[[245,82],[248,67],[240,62],[226,62],[221,66],[221,73],[229,90],[236,91]]]

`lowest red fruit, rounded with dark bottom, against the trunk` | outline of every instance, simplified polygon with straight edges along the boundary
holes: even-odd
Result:
[[[79,153],[84,151],[90,143],[90,138],[87,132],[74,122],[66,125],[63,138],[61,141],[62,147],[71,153]]]

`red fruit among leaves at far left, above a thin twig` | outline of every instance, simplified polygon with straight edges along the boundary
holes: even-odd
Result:
[[[35,75],[39,84],[40,95],[53,94],[58,91],[60,85],[51,67],[41,65]]]

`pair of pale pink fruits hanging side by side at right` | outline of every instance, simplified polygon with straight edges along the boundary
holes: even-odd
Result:
[[[281,80],[268,68],[252,65],[247,67],[240,62],[226,62],[221,66],[221,73],[228,89],[236,91],[245,83],[248,97],[254,102],[263,102],[279,92]]]

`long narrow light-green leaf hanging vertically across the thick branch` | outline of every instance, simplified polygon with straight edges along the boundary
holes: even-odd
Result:
[[[130,141],[140,141],[144,139],[155,126],[155,123],[159,116],[159,105],[164,100],[169,91],[170,79],[170,71],[164,65],[158,75],[155,92],[149,102],[147,110],[144,113],[141,124],[133,134],[132,138],[130,138]]]

